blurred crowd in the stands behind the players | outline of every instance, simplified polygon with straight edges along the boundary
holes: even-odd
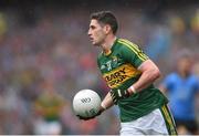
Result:
[[[175,69],[182,49],[191,51],[192,71],[199,76],[199,7],[157,14],[130,7],[109,10],[119,21],[118,36],[139,44],[163,77]],[[87,38],[92,11],[87,7],[0,11],[0,134],[46,134],[38,127],[44,121],[54,123],[52,134],[118,134],[116,107],[88,122],[72,109],[80,90],[94,90],[102,97],[108,91],[96,65],[98,49]]]

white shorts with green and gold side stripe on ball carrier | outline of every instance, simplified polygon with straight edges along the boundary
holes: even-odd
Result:
[[[121,123],[121,135],[172,135],[175,130],[174,119],[165,119],[168,113],[163,115],[163,109],[157,108],[151,113],[132,122]],[[164,117],[165,116],[165,117]],[[171,117],[171,115],[170,115]],[[168,117],[167,117],[168,118]],[[168,122],[167,122],[168,121]],[[168,124],[171,124],[170,132]]]

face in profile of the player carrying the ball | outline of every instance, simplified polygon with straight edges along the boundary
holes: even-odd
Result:
[[[90,29],[88,29],[87,34],[88,34],[93,45],[101,45],[101,44],[103,44],[104,39],[106,36],[104,28],[95,19],[91,20]]]

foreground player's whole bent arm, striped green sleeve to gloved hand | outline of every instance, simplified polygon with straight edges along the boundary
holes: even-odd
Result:
[[[140,72],[140,76],[138,81],[127,90],[117,90],[111,92],[115,104],[117,104],[118,100],[126,98],[132,94],[146,88],[160,76],[159,69],[156,66],[156,64],[149,60],[149,57],[136,44],[133,44],[126,40],[118,40],[118,42],[123,44],[121,48],[123,59],[136,67]]]

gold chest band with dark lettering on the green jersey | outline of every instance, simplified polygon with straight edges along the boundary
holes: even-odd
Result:
[[[125,64],[103,75],[111,88],[122,85],[125,81],[136,76],[140,72],[130,64]]]

